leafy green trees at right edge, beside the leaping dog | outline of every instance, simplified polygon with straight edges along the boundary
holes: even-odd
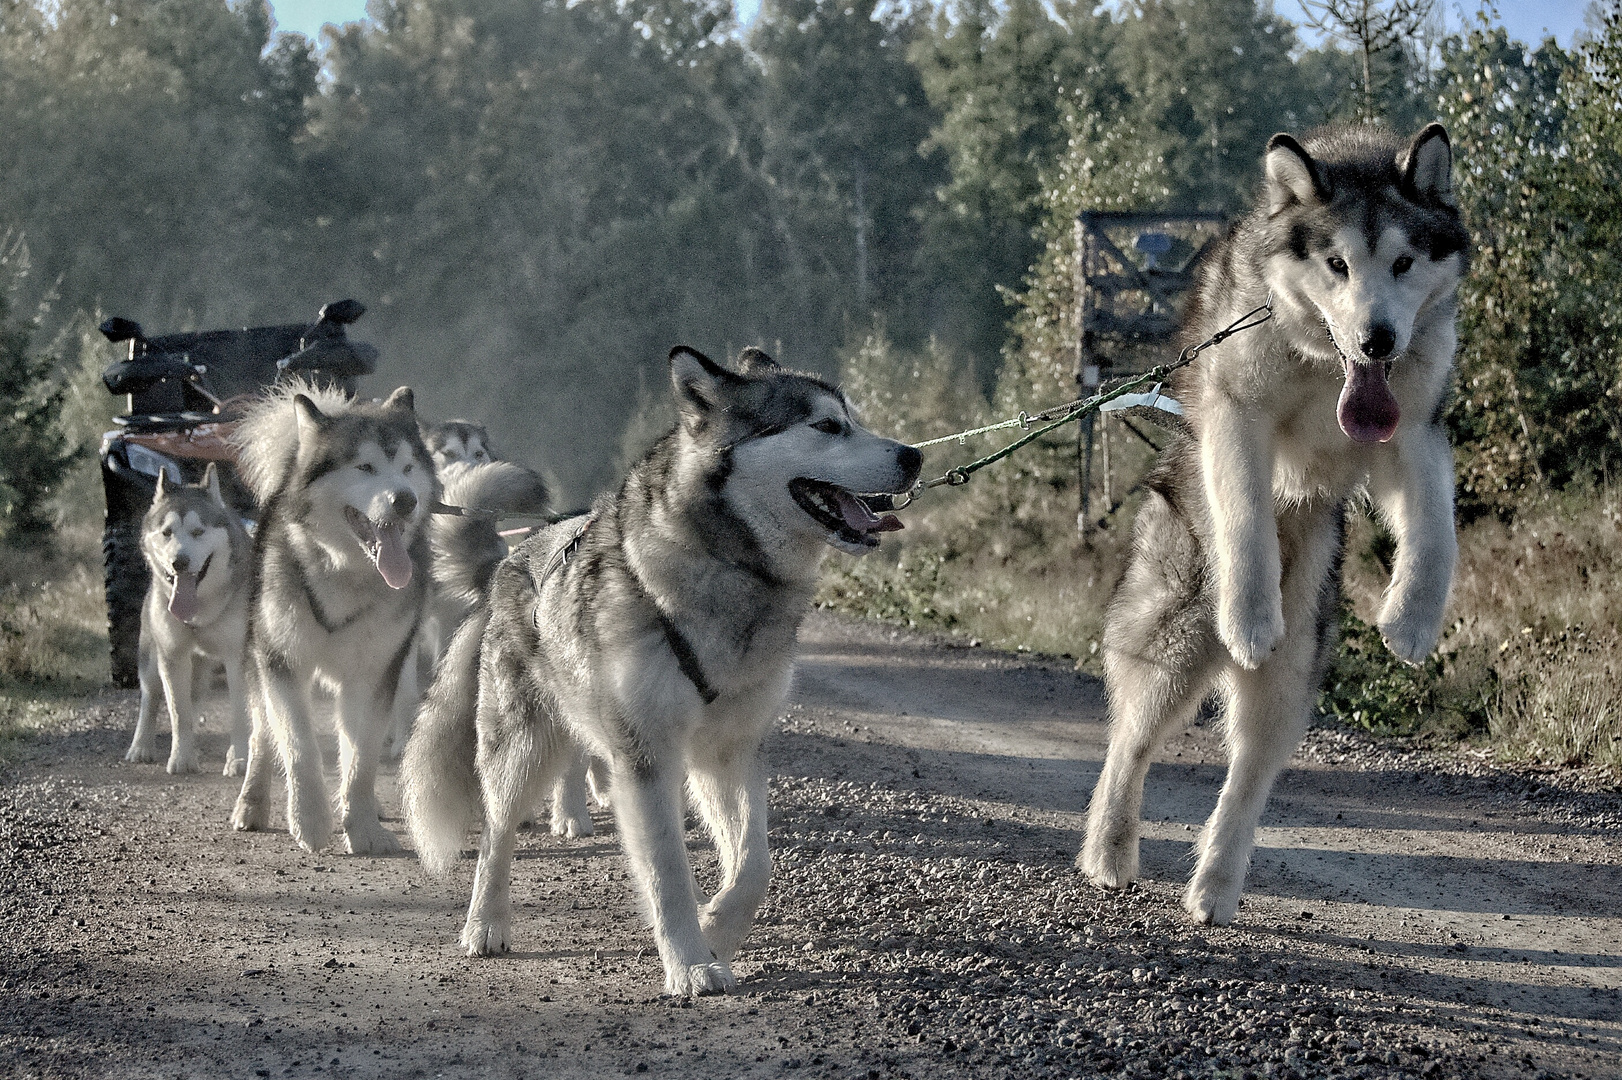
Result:
[[[1577,54],[1447,42],[1442,110],[1476,238],[1448,410],[1466,514],[1606,477],[1622,438],[1622,182],[1612,11]]]

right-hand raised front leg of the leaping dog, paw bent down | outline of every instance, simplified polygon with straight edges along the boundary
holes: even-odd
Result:
[[[1419,663],[1442,636],[1458,561],[1453,449],[1434,423],[1400,433],[1393,449],[1369,477],[1375,508],[1397,538],[1397,563],[1379,623],[1387,647],[1408,663]]]

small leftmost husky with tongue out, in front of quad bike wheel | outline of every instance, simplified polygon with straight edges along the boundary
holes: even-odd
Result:
[[[242,775],[250,730],[242,642],[251,546],[242,519],[221,496],[212,462],[198,485],[174,485],[157,474],[157,495],[141,521],[141,555],[152,587],[141,606],[141,712],[125,761],[157,761],[162,701],[169,705],[169,772],[196,772],[196,699],[214,665],[222,663],[230,694],[225,775]]]

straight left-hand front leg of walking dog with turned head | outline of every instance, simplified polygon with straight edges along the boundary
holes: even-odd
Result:
[[[683,830],[681,751],[642,748],[636,759],[616,754],[611,769],[615,821],[631,872],[654,916],[665,992],[684,997],[732,991],[736,979],[704,941],[693,900],[693,864]]]

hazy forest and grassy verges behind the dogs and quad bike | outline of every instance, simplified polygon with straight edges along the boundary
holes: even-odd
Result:
[[[1388,658],[1356,508],[1322,710],[1614,777],[1622,18],[1562,49],[1426,8],[766,0],[744,29],[730,0],[373,0],[318,49],[258,0],[0,0],[0,730],[105,681],[107,315],[360,298],[368,389],[487,422],[573,504],[668,423],[673,342],[837,376],[908,439],[1056,404],[1080,211],[1236,214],[1273,131],[1439,118],[1474,237],[1453,618],[1422,668]],[[1375,41],[1358,10],[1413,18]],[[1083,529],[1069,433],[936,491],[821,603],[1096,670],[1163,438],[1101,426]]]

